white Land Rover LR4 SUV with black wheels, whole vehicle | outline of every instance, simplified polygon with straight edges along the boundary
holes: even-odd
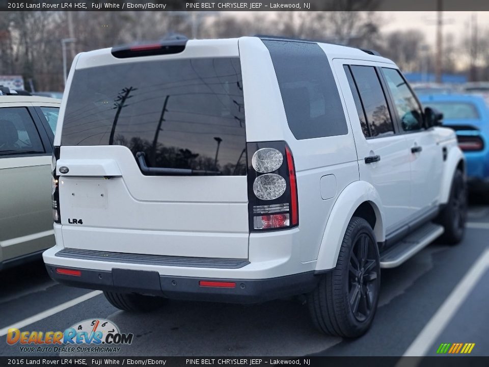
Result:
[[[381,268],[464,234],[464,157],[374,51],[166,40],[79,54],[53,155],[53,279],[114,306],[305,294],[370,326]],[[156,297],[155,297],[156,296]]]

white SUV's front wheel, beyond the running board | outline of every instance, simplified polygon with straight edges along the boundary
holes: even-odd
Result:
[[[464,238],[467,220],[467,184],[464,173],[456,170],[450,188],[450,197],[436,222],[445,228],[439,242],[456,245]]]

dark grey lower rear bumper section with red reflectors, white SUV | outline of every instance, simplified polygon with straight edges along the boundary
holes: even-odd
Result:
[[[311,292],[319,277],[313,271],[268,279],[197,278],[160,275],[154,271],[112,269],[111,271],[66,268],[79,276],[57,273],[60,266],[46,264],[52,279],[70,286],[162,296],[169,299],[256,303]],[[231,288],[201,286],[200,281],[231,282]]]

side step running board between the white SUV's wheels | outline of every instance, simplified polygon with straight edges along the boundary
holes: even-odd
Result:
[[[443,234],[441,225],[427,223],[381,253],[381,268],[395,268]]]

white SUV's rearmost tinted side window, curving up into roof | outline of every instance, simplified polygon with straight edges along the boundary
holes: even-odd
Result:
[[[289,128],[298,140],[348,134],[330,63],[316,43],[267,41]]]

